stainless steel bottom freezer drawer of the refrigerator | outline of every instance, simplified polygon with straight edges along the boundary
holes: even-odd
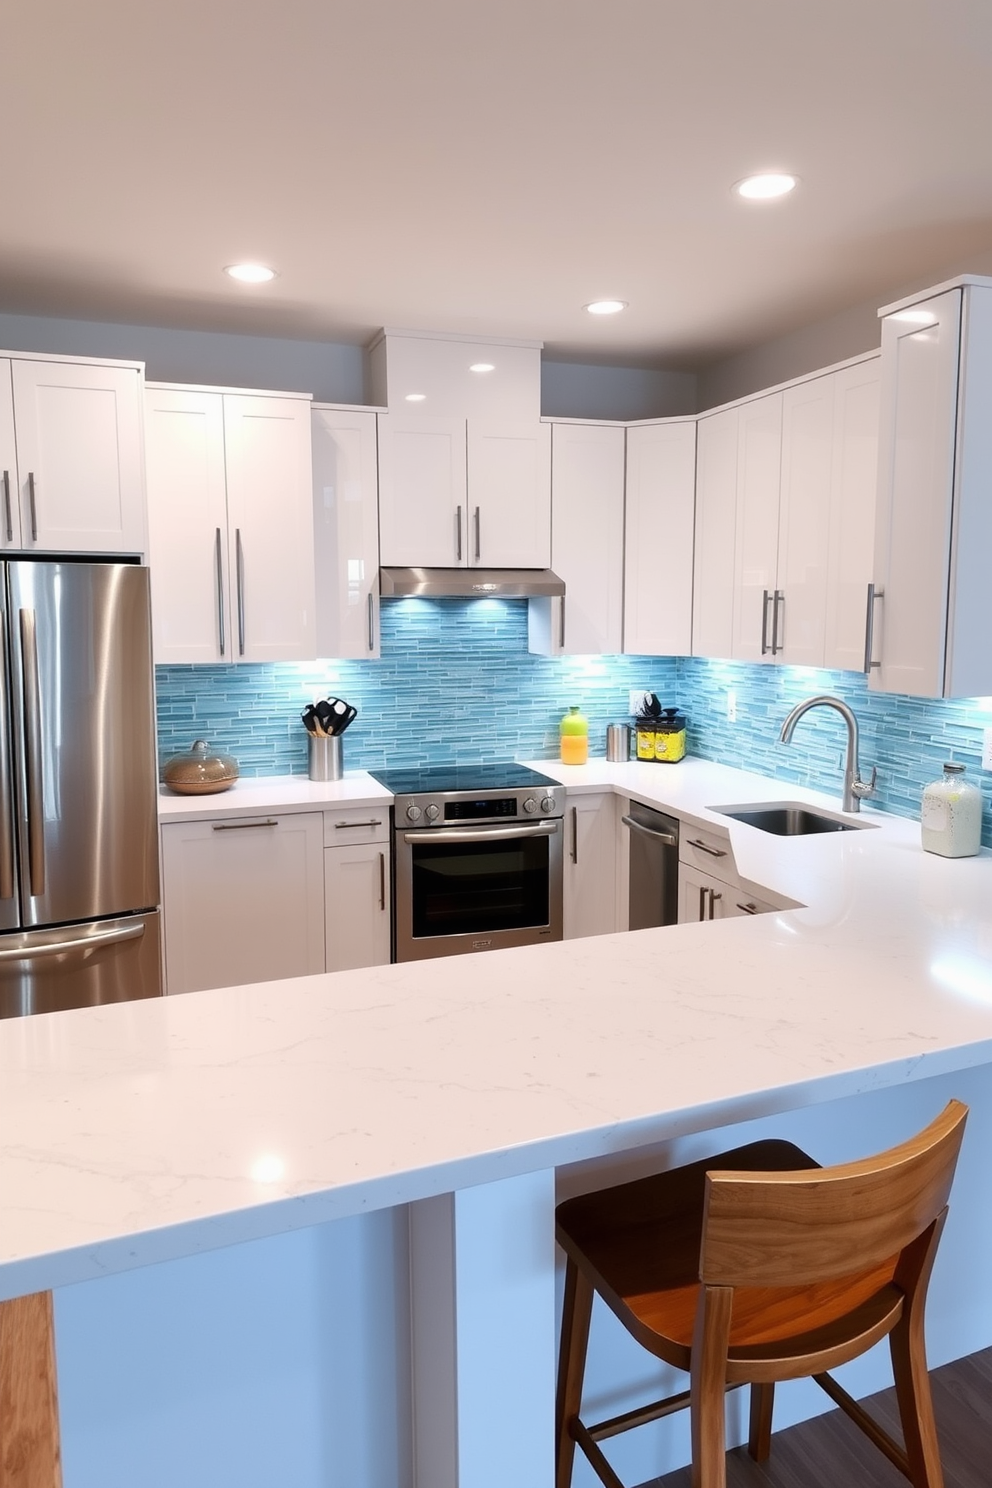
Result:
[[[0,1018],[161,994],[158,909],[0,936]]]

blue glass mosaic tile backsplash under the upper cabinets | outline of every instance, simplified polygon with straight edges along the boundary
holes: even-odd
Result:
[[[379,661],[305,665],[159,667],[159,754],[207,738],[244,775],[306,774],[300,708],[338,695],[358,717],[345,735],[345,768],[553,759],[570,704],[589,719],[590,754],[605,753],[608,723],[628,717],[628,692],[650,689],[689,717],[689,753],[739,765],[840,798],[846,731],[828,710],[808,714],[793,743],[782,719],[802,698],[834,693],[861,725],[861,769],[877,766],[876,802],[918,817],[919,798],[946,759],[980,772],[992,699],[944,702],[872,693],[860,673],[759,667],[698,658],[532,656],[525,600],[393,600],[382,606]],[[736,720],[729,719],[729,695]],[[983,841],[992,847],[992,812]]]

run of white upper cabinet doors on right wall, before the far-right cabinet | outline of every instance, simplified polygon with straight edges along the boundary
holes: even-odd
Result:
[[[877,357],[699,420],[693,655],[864,670]]]

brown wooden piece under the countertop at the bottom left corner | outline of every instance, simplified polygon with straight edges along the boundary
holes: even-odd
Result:
[[[62,1488],[51,1292],[0,1302],[0,1484]]]

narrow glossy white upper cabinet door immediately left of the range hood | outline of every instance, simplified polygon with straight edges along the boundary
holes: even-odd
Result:
[[[379,655],[376,415],[315,406],[317,655]]]

